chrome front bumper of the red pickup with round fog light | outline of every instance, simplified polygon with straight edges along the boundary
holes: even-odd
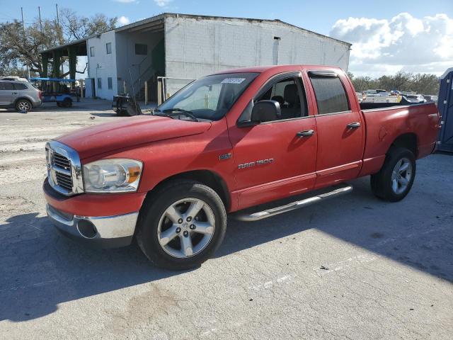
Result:
[[[111,248],[132,242],[139,213],[87,217],[70,215],[47,204],[47,216],[68,237],[84,240],[87,244]]]

